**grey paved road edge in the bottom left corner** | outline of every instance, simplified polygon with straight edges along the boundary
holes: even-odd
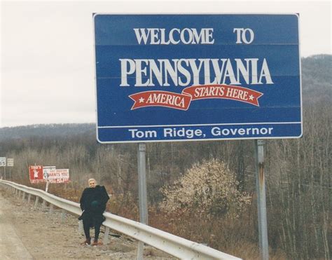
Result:
[[[8,201],[0,197],[0,254],[1,259],[33,259],[17,235]]]

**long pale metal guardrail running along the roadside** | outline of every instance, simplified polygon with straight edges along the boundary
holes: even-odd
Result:
[[[82,213],[78,203],[59,198],[53,194],[47,193],[46,191],[41,191],[39,189],[34,189],[21,184],[15,184],[15,182],[8,182],[5,180],[0,180],[0,184],[5,184],[8,188],[13,189],[15,192],[23,192],[22,198],[25,198],[26,193],[30,194],[30,196],[36,196],[36,203],[38,203],[38,199],[41,198],[44,202],[47,201],[50,205],[60,207],[62,210],[66,210],[67,212],[71,212],[78,216]],[[53,206],[51,206],[51,208],[53,208]],[[109,212],[105,212],[104,217],[106,217],[106,220],[103,222],[103,225],[106,226],[105,235],[108,235],[109,228],[111,228],[125,235],[129,235],[136,240],[151,245],[152,247],[160,249],[167,254],[176,256],[179,259],[240,259],[211,247],[207,247],[206,245],[180,238],[177,235],[160,231],[157,228],[153,228],[130,219],[125,219]]]

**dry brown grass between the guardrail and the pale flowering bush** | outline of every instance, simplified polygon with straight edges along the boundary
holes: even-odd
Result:
[[[241,219],[205,219],[193,212],[189,215],[164,214],[150,209],[149,224],[221,252],[256,260],[259,259],[258,237],[250,214],[245,212]],[[286,259],[286,254],[280,249],[270,248],[269,254],[272,260]]]

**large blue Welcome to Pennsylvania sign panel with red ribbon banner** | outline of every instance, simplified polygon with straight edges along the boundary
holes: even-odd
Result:
[[[94,22],[99,142],[302,135],[298,15]]]

